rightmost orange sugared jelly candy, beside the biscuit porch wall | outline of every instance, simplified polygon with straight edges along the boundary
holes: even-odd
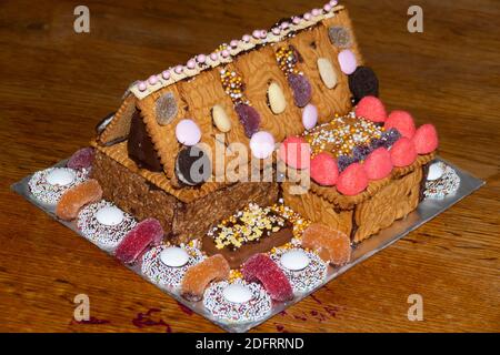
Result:
[[[351,258],[349,236],[321,223],[312,223],[303,231],[302,247],[314,251],[323,261],[337,266]]]

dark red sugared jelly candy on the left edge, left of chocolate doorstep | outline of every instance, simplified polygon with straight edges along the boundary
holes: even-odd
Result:
[[[146,219],[138,223],[118,245],[117,258],[133,264],[148,247],[159,245],[163,240],[163,229],[156,219]]]

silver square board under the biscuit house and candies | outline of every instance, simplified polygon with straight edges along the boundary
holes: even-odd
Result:
[[[217,324],[221,328],[228,331],[228,332],[234,332],[234,333],[243,333],[249,331],[252,327],[258,326],[259,324],[266,322],[267,320],[271,318],[276,314],[280,313],[281,311],[286,310],[287,307],[296,304],[297,302],[300,302],[301,300],[306,298],[317,290],[321,288],[324,284],[329,283],[337,276],[343,274],[349,268],[354,266],[358,263],[361,263],[362,261],[367,260],[368,257],[372,256],[373,254],[380,252],[381,250],[386,248],[387,246],[391,245],[392,243],[397,242],[399,239],[403,237],[411,231],[418,229],[423,223],[430,221],[431,219],[436,217],[441,212],[448,210],[453,204],[466,197],[467,195],[471,194],[479,187],[481,187],[484,182],[482,180],[479,180],[477,178],[473,178],[469,173],[464,172],[463,170],[458,169],[453,164],[450,164],[446,162],[444,160],[437,158],[434,161],[442,161],[446,164],[453,168],[457,172],[457,174],[460,176],[460,187],[459,190],[451,195],[446,196],[442,200],[432,200],[427,199],[423,200],[416,211],[410,213],[406,219],[394,222],[390,227],[381,231],[377,235],[371,236],[370,239],[363,241],[359,245],[356,246],[352,253],[351,262],[347,265],[343,265],[341,267],[331,267],[328,266],[327,277],[324,282],[316,287],[314,290],[303,293],[300,295],[296,295],[292,301],[286,302],[286,303],[279,303],[274,304],[272,307],[271,313],[260,321],[256,322],[248,322],[248,323],[228,323],[223,322],[221,320],[212,317],[203,307],[202,302],[189,302],[186,301],[180,296],[178,292],[176,292],[173,288],[167,288],[167,287],[157,287],[161,288],[166,294],[177,300],[179,303],[183,304],[188,308],[192,310],[193,312],[200,314],[201,316],[206,317],[210,322]],[[59,162],[54,166],[63,166],[66,164],[66,160]],[[52,216],[58,222],[64,224],[69,229],[73,230],[77,234],[82,236],[80,232],[77,229],[76,222],[66,222],[59,220],[54,214],[54,207],[51,205],[47,205],[43,203],[40,203],[37,201],[30,193],[28,181],[30,180],[31,175],[26,176],[21,181],[14,183],[11,189],[19,193],[21,196],[24,196],[29,202],[38,206],[39,209],[43,210],[46,213],[48,213],[50,216]],[[106,252],[106,251],[104,251]],[[108,254],[112,255],[111,253],[107,252]],[[126,266],[129,267],[129,266]],[[133,267],[129,267],[133,272],[136,272],[139,276],[144,278],[146,281],[150,282],[146,278],[144,275],[142,275],[140,265],[136,265]]]

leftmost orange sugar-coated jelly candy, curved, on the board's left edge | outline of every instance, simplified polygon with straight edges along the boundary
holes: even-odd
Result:
[[[56,206],[56,215],[64,221],[74,220],[78,211],[88,203],[102,199],[102,189],[94,179],[89,179],[66,191]]]

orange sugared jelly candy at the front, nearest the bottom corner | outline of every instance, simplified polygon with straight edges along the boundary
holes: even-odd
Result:
[[[211,282],[227,280],[230,270],[228,261],[221,254],[210,256],[189,267],[182,280],[182,297],[192,302],[200,301],[203,297],[204,288]]]

